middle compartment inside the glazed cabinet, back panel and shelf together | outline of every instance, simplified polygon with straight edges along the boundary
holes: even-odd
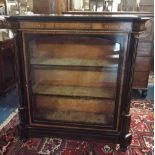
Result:
[[[32,70],[32,77],[33,92],[37,94],[115,98],[116,70],[83,71],[40,67]]]

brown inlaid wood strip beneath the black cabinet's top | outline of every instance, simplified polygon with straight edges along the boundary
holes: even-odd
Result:
[[[114,31],[131,31],[131,24],[126,22],[122,23],[80,23],[80,22],[21,22],[21,29],[76,29],[76,30],[114,30]]]

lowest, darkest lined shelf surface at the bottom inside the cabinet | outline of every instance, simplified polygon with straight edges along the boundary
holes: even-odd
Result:
[[[35,119],[110,125],[113,122],[113,113],[106,115],[102,113],[89,112],[37,110]]]

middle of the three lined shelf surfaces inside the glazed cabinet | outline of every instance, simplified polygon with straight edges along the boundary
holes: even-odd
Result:
[[[34,94],[61,95],[72,97],[115,98],[115,88],[91,88],[75,86],[55,86],[38,84],[33,86]]]

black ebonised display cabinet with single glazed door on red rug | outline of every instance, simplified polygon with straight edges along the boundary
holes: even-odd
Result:
[[[130,92],[138,16],[11,16],[17,34],[21,138],[131,143]]]

